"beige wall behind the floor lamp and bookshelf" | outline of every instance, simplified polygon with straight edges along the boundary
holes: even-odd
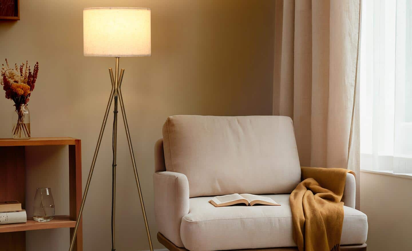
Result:
[[[20,21],[0,21],[0,55],[38,60],[30,98],[34,137],[82,139],[83,186],[110,92],[113,58],[83,56],[82,9],[112,0],[20,1]],[[155,248],[153,145],[173,114],[272,114],[274,1],[119,0],[152,9],[152,56],[121,58],[124,101]],[[2,92],[2,90],[1,90]],[[2,96],[3,94],[1,94]],[[12,101],[0,98],[0,137],[10,137]],[[110,114],[112,115],[112,114]],[[110,121],[110,120],[109,120]],[[111,123],[108,123],[84,211],[84,249],[110,246]],[[117,249],[146,250],[145,229],[119,126]],[[68,214],[68,149],[27,149],[28,214],[36,187],[52,187],[57,214]],[[66,250],[68,229],[27,232],[27,250]]]

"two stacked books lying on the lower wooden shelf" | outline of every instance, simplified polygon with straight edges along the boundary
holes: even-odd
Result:
[[[0,202],[0,224],[27,222],[26,210],[21,203],[15,201]]]

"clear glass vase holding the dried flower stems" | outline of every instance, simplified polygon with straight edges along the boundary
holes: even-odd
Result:
[[[16,106],[13,112],[13,139],[30,139],[30,112],[27,105]]]

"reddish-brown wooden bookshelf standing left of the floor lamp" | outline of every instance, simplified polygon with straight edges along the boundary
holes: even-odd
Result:
[[[0,225],[0,251],[26,250],[26,232],[51,228],[70,228],[70,239],[82,203],[82,148],[80,139],[47,137],[30,139],[0,139],[0,201],[19,200],[26,208],[25,146],[68,145],[69,147],[69,200],[70,215],[58,215],[49,222],[29,218],[26,223]],[[22,185],[24,184],[24,185]],[[83,250],[82,221],[77,230],[75,251]]]

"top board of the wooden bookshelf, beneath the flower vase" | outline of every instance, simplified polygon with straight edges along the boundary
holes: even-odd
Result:
[[[70,137],[47,137],[30,139],[0,139],[0,146],[52,146],[75,145],[76,139]]]

